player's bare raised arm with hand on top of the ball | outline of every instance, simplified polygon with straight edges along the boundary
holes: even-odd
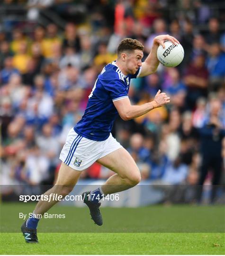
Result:
[[[159,65],[159,60],[157,58],[157,49],[160,45],[162,45],[162,47],[164,48],[164,42],[166,40],[171,41],[174,45],[180,44],[180,42],[175,37],[171,37],[170,35],[161,35],[155,37],[153,40],[152,50],[146,60],[142,63],[142,70],[139,77],[150,75],[156,72]]]

